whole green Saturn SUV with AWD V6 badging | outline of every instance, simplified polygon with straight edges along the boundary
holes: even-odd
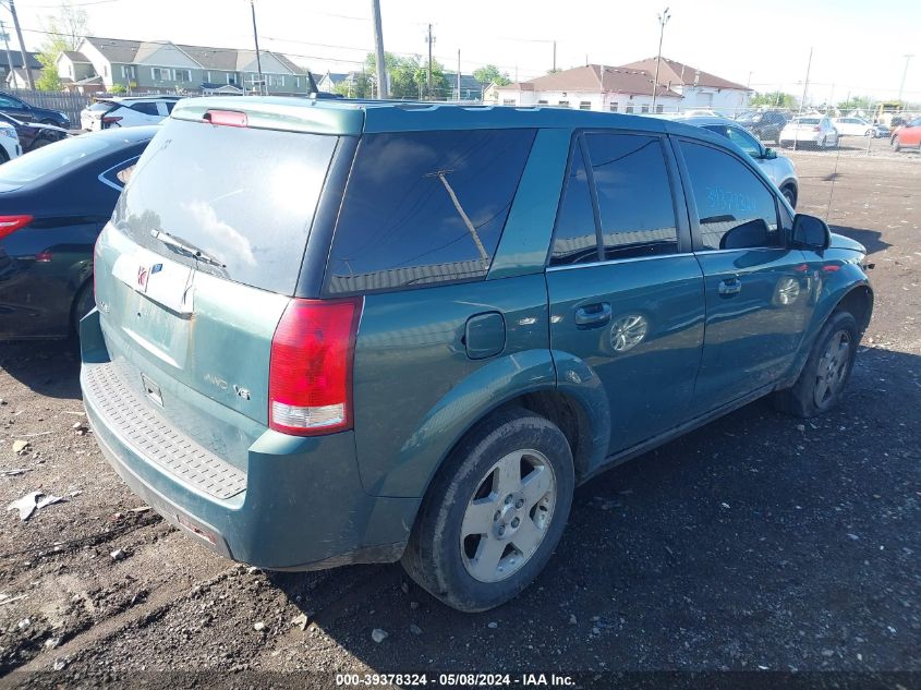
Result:
[[[198,98],[96,245],[81,380],[116,471],[203,545],[402,560],[484,610],[597,472],[762,396],[835,405],[864,254],[700,128]]]

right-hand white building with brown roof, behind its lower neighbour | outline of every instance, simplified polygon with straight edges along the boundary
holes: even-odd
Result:
[[[655,74],[656,58],[631,62],[623,68]],[[748,109],[752,95],[748,86],[668,58],[662,58],[659,62],[658,83],[681,96],[682,111],[700,108],[735,114]]]

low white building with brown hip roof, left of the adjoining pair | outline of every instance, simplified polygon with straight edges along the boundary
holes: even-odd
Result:
[[[650,112],[652,109],[653,77],[644,70],[586,64],[563,70],[508,86],[492,85],[498,105],[554,106],[605,112]],[[658,85],[656,112],[675,110],[681,102],[680,94]]]

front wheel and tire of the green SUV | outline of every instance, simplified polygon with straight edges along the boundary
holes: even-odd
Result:
[[[860,331],[853,315],[834,312],[819,332],[797,383],[774,394],[774,405],[804,419],[834,409],[850,379],[859,343]]]

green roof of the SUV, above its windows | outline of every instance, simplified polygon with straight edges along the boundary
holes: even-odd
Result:
[[[231,96],[181,100],[171,117],[201,122],[210,110],[243,111],[251,128],[318,134],[359,135],[453,129],[615,128],[668,132],[699,138],[712,136],[711,141],[725,145],[725,138],[706,130],[657,118],[547,107]]]

